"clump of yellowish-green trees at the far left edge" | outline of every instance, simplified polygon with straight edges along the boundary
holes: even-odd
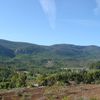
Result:
[[[0,69],[0,89],[26,86],[27,75],[9,68]]]

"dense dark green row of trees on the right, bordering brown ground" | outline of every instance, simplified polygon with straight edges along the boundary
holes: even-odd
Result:
[[[44,86],[52,86],[54,84],[70,85],[71,82],[75,84],[93,84],[100,83],[100,71],[66,70],[49,75],[38,75],[36,80],[39,85]]]

